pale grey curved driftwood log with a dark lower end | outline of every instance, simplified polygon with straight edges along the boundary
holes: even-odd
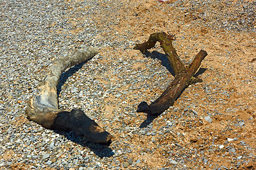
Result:
[[[100,128],[94,120],[85,115],[79,109],[70,112],[58,108],[57,85],[60,75],[68,67],[86,62],[97,54],[94,47],[87,47],[83,52],[76,52],[60,58],[50,66],[46,79],[38,84],[36,96],[28,100],[26,115],[44,128],[50,130],[73,131],[76,135],[82,135],[92,142],[107,143],[112,135]]]

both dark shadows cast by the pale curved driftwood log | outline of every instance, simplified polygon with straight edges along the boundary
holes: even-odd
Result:
[[[65,81],[68,79],[68,77],[72,76],[75,74],[75,72],[78,72],[79,69],[82,68],[82,66],[86,62],[82,62],[80,64],[76,64],[73,67],[70,67],[66,72],[63,72],[60,76],[60,82],[58,83],[57,86],[57,94],[59,96],[61,88],[63,84],[65,84]],[[72,131],[71,132],[63,132],[63,131],[58,131],[54,130],[56,133],[60,135],[64,135],[68,140],[77,143],[78,145],[81,145],[82,147],[89,147],[92,152],[94,152],[98,157],[112,157],[114,155],[114,152],[112,149],[109,147],[110,143],[101,145],[97,144],[94,142],[90,142],[87,140],[85,137],[77,136],[75,135]]]

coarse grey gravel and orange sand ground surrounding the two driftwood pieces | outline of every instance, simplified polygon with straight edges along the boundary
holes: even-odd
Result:
[[[254,169],[255,11],[256,1],[1,0],[0,169]],[[208,57],[203,83],[150,120],[137,106],[174,77],[159,45],[132,47],[159,31],[176,34],[186,64]],[[85,111],[114,135],[109,146],[24,112],[50,64],[89,45],[100,53],[62,75],[59,106]]]

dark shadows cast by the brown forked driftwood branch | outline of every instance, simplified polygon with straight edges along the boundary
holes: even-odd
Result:
[[[161,61],[161,64],[166,67],[166,69],[168,69],[168,71],[173,75],[175,76],[174,74],[174,69],[171,67],[171,64],[168,60],[168,58],[166,57],[166,55],[164,54],[161,54],[160,52],[156,52],[156,51],[153,51],[153,52],[149,52],[149,51],[146,51],[144,53],[144,55],[146,55],[146,57],[151,57],[151,58],[156,58],[158,60]],[[198,77],[200,74],[203,74],[203,72],[206,72],[206,68],[200,68],[198,70],[198,72],[196,72],[196,74],[194,75],[194,77]],[[183,93],[183,91],[181,92],[181,94]],[[179,96],[181,96],[181,94]],[[179,97],[178,96],[178,97]],[[142,102],[143,103],[143,102]],[[139,106],[142,104],[140,103]],[[138,108],[139,108],[138,106]],[[144,122],[139,126],[139,128],[146,128],[146,126],[148,126],[151,122],[153,122],[153,120],[155,118],[157,118],[159,115],[149,115],[147,114],[146,115],[146,120],[144,120]]]

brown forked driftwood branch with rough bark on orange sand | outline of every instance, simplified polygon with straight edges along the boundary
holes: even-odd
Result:
[[[145,53],[146,50],[154,47],[156,42],[159,41],[161,47],[166,53],[166,56],[168,57],[171,67],[174,69],[175,74],[174,81],[171,82],[163,94],[161,94],[161,96],[150,105],[144,101],[140,103],[137,112],[148,113],[149,115],[160,115],[170,106],[174,105],[174,101],[176,98],[178,98],[183,89],[190,84],[202,81],[202,79],[193,76],[196,74],[196,71],[200,67],[201,62],[206,57],[207,53],[201,50],[193,59],[193,62],[186,67],[181,62],[181,59],[178,57],[176,50],[172,45],[173,40],[174,35],[166,33],[153,33],[150,35],[148,41],[134,47],[135,50],[140,50],[142,53]]]

